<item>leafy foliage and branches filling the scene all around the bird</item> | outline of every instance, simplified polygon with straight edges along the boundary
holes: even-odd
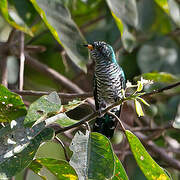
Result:
[[[179,179],[180,89],[171,86],[180,80],[179,0],[1,0],[0,12],[1,81],[10,89],[0,86],[0,179],[23,170],[27,179]],[[90,131],[97,113],[83,100],[93,63],[82,44],[96,40],[137,81],[115,104],[123,104],[118,144]],[[22,51],[24,89],[34,90],[16,91],[23,100],[13,92]],[[53,92],[37,98],[37,90]],[[60,159],[43,152],[48,141],[61,145]]]

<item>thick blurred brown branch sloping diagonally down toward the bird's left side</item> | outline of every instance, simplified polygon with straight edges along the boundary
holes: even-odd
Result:
[[[65,89],[70,90],[72,92],[76,92],[76,93],[84,92],[81,88],[79,88],[76,84],[71,82],[68,78],[59,74],[57,71],[48,67],[47,65],[42,64],[35,58],[29,56],[27,53],[25,54],[25,58],[27,59],[26,64],[32,66],[37,71],[40,71],[40,72],[48,75],[49,77],[54,79],[57,83],[59,83]]]

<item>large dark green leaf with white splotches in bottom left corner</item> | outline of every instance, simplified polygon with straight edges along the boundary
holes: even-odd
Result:
[[[23,127],[24,118],[13,120],[5,133],[0,129],[0,175],[12,177],[27,167],[44,141],[51,140],[54,130],[45,128],[44,122],[33,128]]]

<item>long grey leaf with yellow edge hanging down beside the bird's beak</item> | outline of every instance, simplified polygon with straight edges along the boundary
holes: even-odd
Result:
[[[88,50],[81,46],[85,43],[85,39],[71,19],[68,9],[60,1],[31,0],[31,2],[72,61],[86,70]]]

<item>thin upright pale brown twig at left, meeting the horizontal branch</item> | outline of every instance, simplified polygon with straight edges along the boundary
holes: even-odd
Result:
[[[20,70],[19,70],[19,90],[23,90],[24,84],[24,33],[20,32]]]

